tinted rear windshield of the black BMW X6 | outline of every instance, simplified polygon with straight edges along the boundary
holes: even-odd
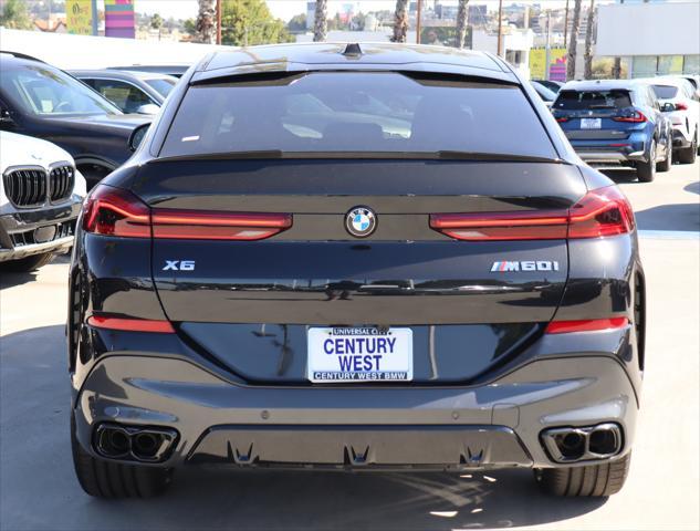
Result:
[[[390,72],[191,86],[161,155],[251,150],[556,157],[520,87]]]

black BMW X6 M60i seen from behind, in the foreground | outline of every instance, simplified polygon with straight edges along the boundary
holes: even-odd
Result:
[[[625,481],[634,214],[495,56],[207,56],[87,197],[70,279],[90,494],[155,494],[198,464]]]

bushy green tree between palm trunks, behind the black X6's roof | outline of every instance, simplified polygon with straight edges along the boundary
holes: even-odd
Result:
[[[252,46],[293,41],[284,22],[272,17],[264,0],[223,0],[222,44]]]

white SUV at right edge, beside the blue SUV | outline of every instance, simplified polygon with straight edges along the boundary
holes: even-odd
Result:
[[[683,77],[655,77],[649,83],[660,101],[664,114],[673,126],[673,150],[678,160],[694,163],[698,154],[700,96],[690,81]]]

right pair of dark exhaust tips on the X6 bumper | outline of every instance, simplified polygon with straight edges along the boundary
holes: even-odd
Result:
[[[542,442],[556,462],[606,459],[623,449],[623,430],[614,423],[581,428],[551,428],[542,431]]]

